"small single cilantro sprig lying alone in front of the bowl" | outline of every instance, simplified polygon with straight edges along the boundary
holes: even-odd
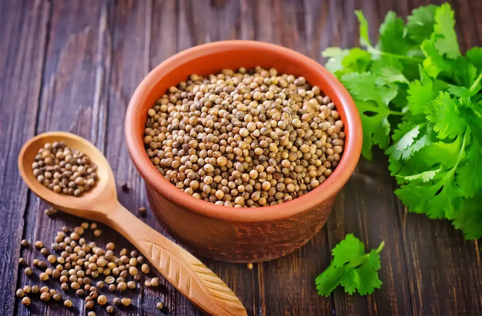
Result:
[[[371,294],[380,289],[382,281],[378,278],[380,269],[380,251],[385,242],[377,249],[365,253],[365,246],[353,234],[348,234],[332,250],[333,259],[323,273],[315,279],[319,295],[330,296],[330,293],[341,284],[345,292],[361,295]]]

